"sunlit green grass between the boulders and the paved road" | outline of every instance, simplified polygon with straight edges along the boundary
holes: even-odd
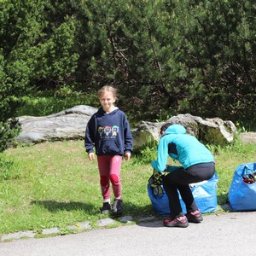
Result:
[[[256,159],[256,145],[236,140],[214,152],[218,173],[218,204],[228,199],[236,167]],[[150,160],[155,150],[124,160],[121,172],[125,215],[139,218],[156,214],[148,198],[147,183],[152,174]],[[58,227],[90,221],[94,226],[102,215],[102,195],[97,163],[89,161],[83,141],[40,143],[9,148],[0,154],[0,235]],[[218,207],[218,212],[224,211]]]

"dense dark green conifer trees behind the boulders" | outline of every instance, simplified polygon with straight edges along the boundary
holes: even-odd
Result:
[[[15,117],[98,107],[112,84],[131,124],[178,113],[255,130],[254,0],[0,0],[0,151]]]

